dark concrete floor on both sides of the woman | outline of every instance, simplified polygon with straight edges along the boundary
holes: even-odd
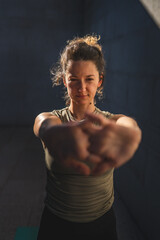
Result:
[[[17,227],[38,226],[45,196],[44,153],[31,127],[0,127],[0,240]],[[144,240],[118,192],[114,209],[119,240]]]

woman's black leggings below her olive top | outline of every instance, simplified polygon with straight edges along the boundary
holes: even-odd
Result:
[[[44,208],[37,240],[61,239],[105,239],[117,240],[116,218],[111,208],[102,217],[89,223],[66,221],[55,216],[47,207]]]

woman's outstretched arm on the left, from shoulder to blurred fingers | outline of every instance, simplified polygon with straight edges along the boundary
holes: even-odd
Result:
[[[89,175],[91,169],[86,162],[100,162],[98,156],[88,151],[89,136],[85,129],[90,126],[92,127],[92,123],[87,120],[62,124],[60,119],[52,114],[42,113],[35,119],[33,130],[57,164]],[[53,161],[49,163],[50,168],[52,163]]]

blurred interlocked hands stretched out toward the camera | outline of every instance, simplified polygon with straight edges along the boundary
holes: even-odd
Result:
[[[140,142],[139,134],[139,129],[87,114],[82,122],[53,126],[45,145],[58,164],[83,175],[100,175],[131,159]]]

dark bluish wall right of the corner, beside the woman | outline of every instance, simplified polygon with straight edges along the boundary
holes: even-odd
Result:
[[[100,106],[134,117],[139,150],[115,171],[115,187],[145,239],[159,239],[160,30],[139,1],[87,0],[85,31],[101,35],[107,61]]]

